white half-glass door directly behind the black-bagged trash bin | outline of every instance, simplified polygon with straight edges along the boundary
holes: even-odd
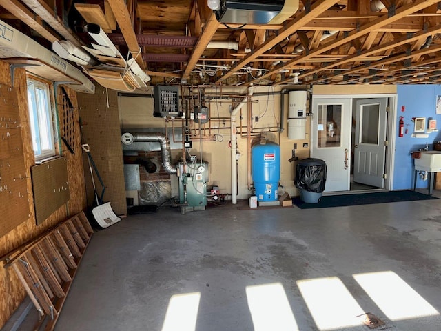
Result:
[[[313,96],[311,157],[327,165],[325,192],[348,191],[351,168],[351,99]]]

